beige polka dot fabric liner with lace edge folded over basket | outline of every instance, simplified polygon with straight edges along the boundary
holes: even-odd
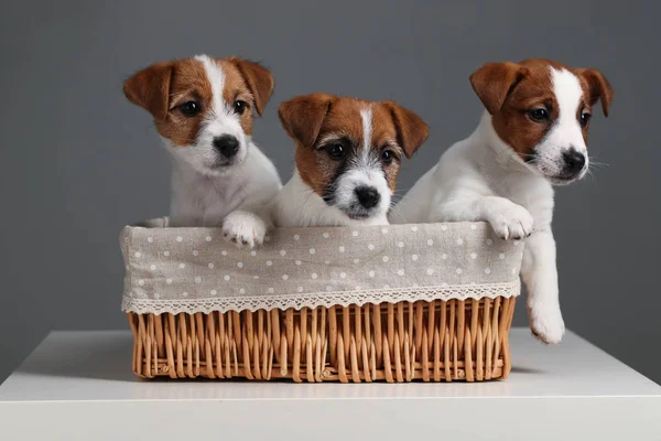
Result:
[[[239,249],[219,228],[122,230],[122,310],[209,313],[518,295],[523,241],[486,223],[277,228]]]

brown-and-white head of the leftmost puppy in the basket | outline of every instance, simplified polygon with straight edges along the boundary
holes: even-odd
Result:
[[[124,82],[175,157],[198,172],[226,173],[248,154],[253,110],[261,115],[273,76],[259,64],[207,55],[156,63]]]

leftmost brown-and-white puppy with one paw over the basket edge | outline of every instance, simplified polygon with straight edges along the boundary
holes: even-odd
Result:
[[[259,64],[207,55],[156,63],[124,82],[172,158],[172,227],[221,226],[226,239],[260,245],[260,211],[280,190],[273,163],[252,142],[273,76]]]

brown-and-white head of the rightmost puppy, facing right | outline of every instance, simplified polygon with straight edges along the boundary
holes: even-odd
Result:
[[[585,175],[592,108],[602,100],[608,116],[613,101],[604,75],[549,60],[525,60],[486,64],[470,83],[500,139],[530,168],[554,184]]]

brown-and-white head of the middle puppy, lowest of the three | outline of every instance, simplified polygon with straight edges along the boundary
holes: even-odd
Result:
[[[278,114],[296,143],[301,179],[353,219],[388,213],[402,157],[411,158],[429,133],[393,101],[312,94],[283,103]]]

